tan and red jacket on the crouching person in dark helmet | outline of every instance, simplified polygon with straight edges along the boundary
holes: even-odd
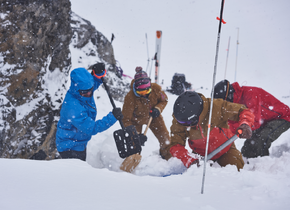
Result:
[[[168,147],[169,149],[177,144],[185,146],[186,139],[188,138],[189,146],[193,152],[202,156],[205,155],[211,99],[205,98],[202,94],[199,95],[203,100],[203,111],[200,115],[198,125],[193,127],[182,126],[173,116],[172,126],[170,128],[171,143]],[[253,122],[251,122],[251,120],[248,120],[247,117],[243,117],[245,116],[245,112],[250,112],[245,105],[227,102],[222,99],[214,99],[208,153],[212,152],[234,135],[229,129],[228,120],[239,121],[241,124],[244,122],[250,126],[252,125]],[[247,115],[247,113],[245,114]],[[229,147],[230,145],[218,155],[214,156],[213,159],[217,159],[222,154],[227,152]]]

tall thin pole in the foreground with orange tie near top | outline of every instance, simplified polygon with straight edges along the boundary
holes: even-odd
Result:
[[[216,78],[218,51],[219,51],[219,43],[220,43],[220,33],[221,33],[222,20],[223,20],[223,10],[224,10],[224,0],[222,0],[222,3],[221,3],[221,11],[220,11],[220,18],[219,18],[219,29],[218,29],[218,36],[217,36],[216,56],[215,56],[215,64],[214,64],[214,72],[213,72],[213,81],[212,81],[212,90],[211,90],[210,112],[209,112],[209,119],[208,119],[208,126],[207,126],[207,138],[206,138],[206,148],[205,148],[205,158],[204,158],[204,167],[203,167],[201,194],[203,194],[203,190],[204,190],[204,180],[205,180],[205,171],[206,171],[206,160],[207,160],[208,142],[209,142],[209,133],[210,133],[210,124],[211,124],[212,107],[213,107],[213,93],[214,93],[214,85],[215,85],[215,78]]]

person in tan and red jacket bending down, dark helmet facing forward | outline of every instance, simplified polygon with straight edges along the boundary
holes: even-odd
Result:
[[[184,92],[175,101],[168,149],[187,168],[198,162],[198,158],[190,155],[185,148],[187,139],[193,153],[205,156],[210,103],[210,98],[191,91]],[[239,122],[237,133],[242,130],[240,138],[251,137],[254,114],[245,105],[213,99],[208,154],[234,135],[229,129],[228,120]],[[235,165],[238,170],[244,166],[242,154],[234,143],[217,153],[212,160],[220,166]]]

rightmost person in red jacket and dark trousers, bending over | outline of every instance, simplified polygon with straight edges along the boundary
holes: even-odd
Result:
[[[241,149],[246,158],[269,155],[271,143],[290,127],[289,107],[262,88],[222,80],[215,85],[214,98],[244,104],[255,114],[252,137]],[[229,125],[232,131],[238,127],[233,121]]]

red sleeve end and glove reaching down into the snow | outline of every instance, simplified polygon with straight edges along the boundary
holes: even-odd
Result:
[[[170,153],[173,157],[180,159],[186,168],[189,168],[193,164],[197,164],[197,166],[199,166],[199,160],[191,157],[187,149],[180,144],[171,147]]]

